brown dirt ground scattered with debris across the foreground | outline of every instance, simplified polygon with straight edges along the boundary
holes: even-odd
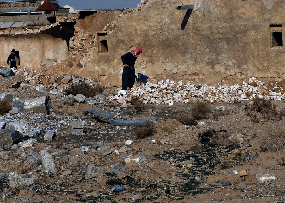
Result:
[[[8,82],[8,79],[1,78],[2,90],[9,89],[11,80]],[[29,97],[40,94],[29,93]],[[0,172],[16,171],[23,177],[34,175],[37,178],[36,186],[7,188],[1,191],[0,202],[285,202],[285,146],[282,148],[285,119],[280,115],[266,116],[262,113],[257,113],[257,117],[253,118],[245,110],[247,103],[207,104],[211,112],[207,119],[199,120],[205,123],[189,128],[183,127],[174,117],[182,113],[190,115],[195,104],[145,105],[143,112],[135,112],[131,106],[121,108],[119,113],[123,117],[158,118],[154,127],[156,133],[144,139],[137,138],[136,127],[116,127],[91,114],[84,114],[91,105],[64,106],[55,112],[58,115],[54,117],[55,123],[56,119],[72,115],[95,122],[94,129],[86,127],[83,136],[71,136],[67,128],[62,128],[51,142],[44,141],[42,135],[37,137],[39,144],[28,149],[9,149],[14,156],[10,160],[0,160]],[[272,103],[280,113],[284,101],[274,100]],[[225,110],[219,110],[222,107]],[[110,113],[110,109],[119,106],[109,104],[93,108]],[[218,144],[209,146],[201,144],[197,138],[199,133],[207,130],[227,132],[217,133],[212,142]],[[228,141],[227,137],[238,134],[244,142],[236,140],[233,144]],[[99,162],[91,161],[94,159],[88,154],[69,156],[68,163],[59,161],[61,154],[69,155],[72,150],[66,147],[68,144],[73,144],[75,148],[105,142],[115,150],[121,148],[126,140],[133,141],[128,146],[129,151],[108,156],[102,156],[98,151],[94,157],[99,157]],[[279,148],[272,147],[277,143],[274,140],[280,144]],[[26,158],[19,152],[30,149],[36,152],[59,152],[54,156],[58,173],[49,177],[40,164],[26,167]],[[144,154],[148,163],[124,165],[120,170],[127,174],[126,177],[108,172],[113,165],[120,163],[122,157],[130,154]],[[246,156],[253,158],[247,159]],[[85,180],[88,164],[104,168],[105,173]],[[240,174],[243,170],[246,174]],[[66,175],[66,171],[71,173]],[[258,173],[272,173],[276,179],[260,183],[256,179]],[[223,180],[231,181],[232,184],[223,186]],[[126,191],[111,192],[112,185],[125,187]],[[169,194],[166,194],[166,189],[170,191]],[[133,200],[134,195],[139,198]]]

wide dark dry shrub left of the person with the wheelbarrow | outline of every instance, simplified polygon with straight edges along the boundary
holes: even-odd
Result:
[[[97,84],[92,87],[86,82],[79,81],[77,84],[72,84],[65,92],[66,94],[82,94],[84,96],[94,97],[103,90],[105,90],[105,87],[102,84]]]

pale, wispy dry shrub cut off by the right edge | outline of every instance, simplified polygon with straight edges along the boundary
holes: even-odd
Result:
[[[262,140],[262,145],[269,151],[278,152],[285,149],[285,129],[281,125],[268,129],[267,136]]]

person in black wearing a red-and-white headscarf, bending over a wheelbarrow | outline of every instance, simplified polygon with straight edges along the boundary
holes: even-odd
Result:
[[[128,53],[121,56],[122,62],[124,64],[123,74],[122,74],[122,90],[127,90],[127,87],[130,89],[135,84],[135,62],[138,55],[143,53],[143,50],[140,47],[137,49],[129,51]]]

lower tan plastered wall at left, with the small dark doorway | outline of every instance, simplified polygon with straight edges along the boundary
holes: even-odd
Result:
[[[43,59],[56,59],[60,62],[68,58],[68,42],[73,36],[74,24],[71,27],[72,29],[67,24],[57,23],[0,30],[0,65],[7,66],[7,58],[12,49],[19,51],[19,68],[38,69]]]

